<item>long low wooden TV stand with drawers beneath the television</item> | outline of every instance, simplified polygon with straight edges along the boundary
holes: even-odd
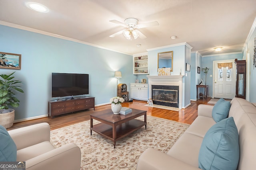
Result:
[[[72,113],[75,111],[85,110],[93,108],[94,97],[84,97],[84,98],[73,98],[72,100],[59,100],[59,101],[49,101],[48,102],[48,116],[54,117],[56,115],[62,115],[65,113]]]

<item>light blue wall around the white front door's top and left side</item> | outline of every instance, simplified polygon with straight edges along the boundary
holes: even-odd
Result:
[[[201,67],[201,77],[205,82],[205,74],[202,72],[202,68],[208,67],[210,70],[208,71],[207,78],[206,78],[206,84],[209,86],[209,96],[213,96],[213,82],[212,77],[210,75],[213,75],[213,61],[220,61],[220,60],[231,60],[231,59],[238,59],[242,60],[243,54],[242,53],[227,53],[222,55],[211,55],[210,57],[202,57],[202,67]]]

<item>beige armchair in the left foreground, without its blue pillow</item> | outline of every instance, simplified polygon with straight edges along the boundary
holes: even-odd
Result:
[[[50,125],[39,123],[8,131],[17,146],[17,161],[26,170],[80,170],[81,151],[74,143],[55,148],[50,143]]]

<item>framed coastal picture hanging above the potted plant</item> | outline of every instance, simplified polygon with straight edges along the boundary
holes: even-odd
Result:
[[[0,52],[0,68],[21,69],[21,54]]]

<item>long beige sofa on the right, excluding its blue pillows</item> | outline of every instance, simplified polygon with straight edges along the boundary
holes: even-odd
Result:
[[[213,106],[198,106],[198,117],[165,154],[146,149],[138,160],[137,170],[198,170],[198,155],[204,135],[216,122]],[[256,107],[250,102],[234,98],[228,117],[234,117],[238,129],[240,157],[237,170],[256,167]]]

